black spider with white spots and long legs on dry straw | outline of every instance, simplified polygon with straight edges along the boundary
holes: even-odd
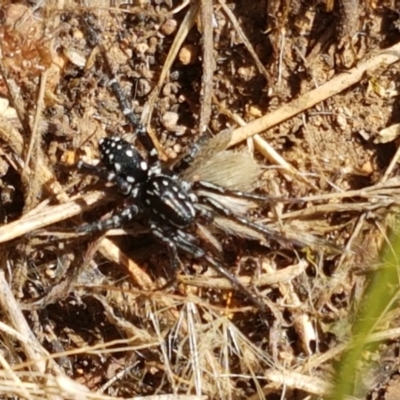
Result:
[[[243,286],[224,267],[223,249],[213,233],[217,229],[247,239],[286,241],[279,233],[248,218],[251,209],[259,208],[266,202],[270,203],[272,199],[246,190],[237,190],[252,187],[251,181],[257,178],[258,166],[243,154],[241,158],[238,153],[233,156],[235,153],[220,151],[229,143],[229,132],[218,134],[205,145],[195,144],[188,156],[175,165],[170,166],[159,160],[148,132],[139,117],[133,113],[124,91],[112,73],[106,51],[93,29],[90,30],[90,40],[101,48],[104,66],[111,77],[111,91],[128,123],[135,129],[137,140],[147,151],[148,157],[145,159],[137,147],[119,136],[99,141],[99,166],[81,161],[78,168],[102,180],[113,182],[126,197],[126,205],[122,210],[115,211],[111,218],[84,225],[78,230],[90,233],[120,228],[133,219],[141,218],[153,237],[165,245],[174,275],[180,264],[179,253],[189,254],[194,259],[203,259],[229,279],[233,287],[258,309],[265,312],[266,306],[262,299]],[[202,136],[201,140],[204,141],[203,139]],[[232,173],[232,168],[228,172],[232,175],[230,183],[221,184],[227,180],[227,176],[219,179],[220,183],[215,182],[210,171],[207,172],[208,168],[220,169],[222,173],[226,173],[229,163],[231,167],[232,163],[236,167],[236,172]],[[201,178],[194,179],[196,175]],[[204,249],[204,241],[212,247],[212,251]],[[291,242],[303,245],[295,239],[291,239]]]

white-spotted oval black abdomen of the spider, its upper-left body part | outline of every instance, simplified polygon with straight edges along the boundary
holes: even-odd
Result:
[[[131,184],[145,182],[148,175],[147,161],[137,149],[120,137],[99,141],[103,164]]]

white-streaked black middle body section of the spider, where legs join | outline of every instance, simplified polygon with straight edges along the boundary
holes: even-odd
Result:
[[[148,180],[144,187],[144,202],[155,216],[178,228],[189,226],[196,218],[187,191],[168,175],[155,175]]]

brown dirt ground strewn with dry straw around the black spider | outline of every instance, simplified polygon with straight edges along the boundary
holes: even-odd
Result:
[[[399,43],[395,0],[3,1],[0,397],[328,398],[395,226]],[[79,230],[129,201],[77,168],[101,138],[135,143],[114,76],[168,168],[231,132],[230,165],[203,154],[181,179],[278,198],[246,210],[271,234],[212,231],[256,300],[184,254],[163,288],[143,219]],[[353,398],[400,398],[397,321]]]

